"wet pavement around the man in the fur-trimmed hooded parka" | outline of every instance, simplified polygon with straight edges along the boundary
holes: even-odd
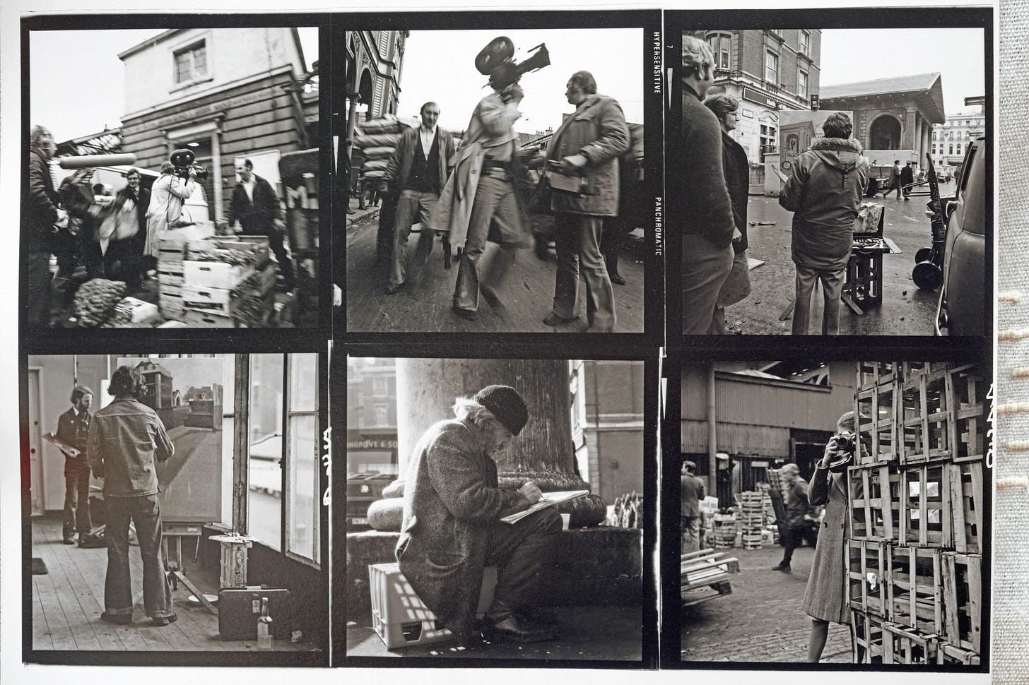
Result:
[[[941,185],[941,195],[954,192],[954,184]],[[868,200],[866,199],[865,202]],[[929,219],[925,216],[928,196],[910,201],[878,195],[873,202],[886,208],[883,235],[900,249],[883,256],[883,302],[867,308],[863,315],[841,307],[841,335],[932,335],[938,290],[919,290],[912,280],[915,253],[931,245]],[[747,334],[789,334],[791,317],[780,320],[793,298],[793,262],[790,259],[792,213],[779,207],[777,197],[751,195],[747,205],[749,221],[773,221],[774,225],[749,226],[747,254],[765,263],[750,271],[751,293],[725,309],[730,328]],[[821,330],[822,298],[816,288],[812,296],[811,332]]]

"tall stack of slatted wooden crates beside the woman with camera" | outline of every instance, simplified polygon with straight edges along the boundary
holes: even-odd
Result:
[[[859,663],[978,664],[987,382],[978,365],[860,363],[848,469]]]

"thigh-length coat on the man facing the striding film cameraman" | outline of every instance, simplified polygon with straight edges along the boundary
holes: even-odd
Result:
[[[554,132],[546,158],[555,161],[574,154],[588,159],[583,172],[590,181],[588,194],[555,190],[555,212],[618,215],[618,157],[629,150],[629,128],[622,105],[614,98],[593,94]]]

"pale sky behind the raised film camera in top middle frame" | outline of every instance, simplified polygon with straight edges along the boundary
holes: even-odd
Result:
[[[562,113],[574,111],[565,84],[579,70],[593,73],[598,92],[617,100],[628,121],[643,122],[642,29],[412,31],[397,114],[417,116],[423,103],[433,101],[439,105],[439,125],[463,131],[475,104],[490,93],[484,87],[488,77],[475,69],[475,56],[497,36],[511,39],[519,63],[539,43],[546,43],[551,53],[549,67],[522,77],[525,99],[516,131],[557,129]]]

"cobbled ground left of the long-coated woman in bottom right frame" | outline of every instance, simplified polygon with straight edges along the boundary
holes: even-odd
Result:
[[[788,574],[771,570],[782,558],[779,545],[723,551],[740,560],[733,592],[682,610],[682,660],[805,662],[811,619],[801,605],[815,550],[793,552]],[[831,623],[822,662],[850,663],[850,629]]]

